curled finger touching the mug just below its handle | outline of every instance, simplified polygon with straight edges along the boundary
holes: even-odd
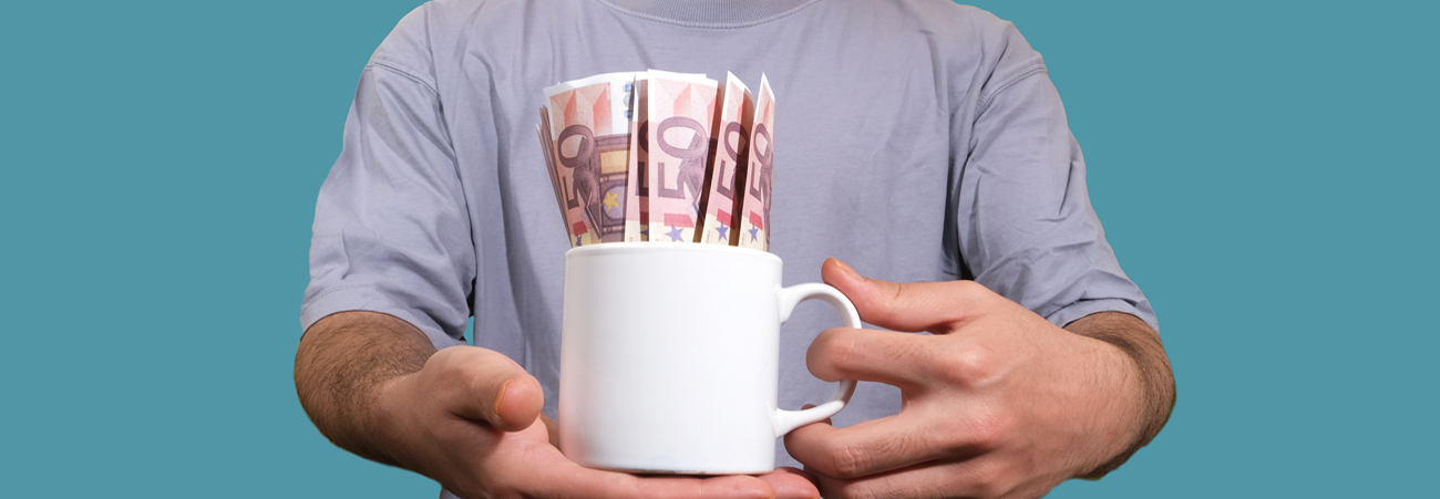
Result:
[[[837,429],[808,424],[785,436],[792,457],[825,476],[854,479],[953,456],[959,449],[917,411]]]

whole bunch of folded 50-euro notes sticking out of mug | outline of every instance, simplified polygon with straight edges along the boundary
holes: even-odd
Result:
[[[544,89],[539,135],[570,246],[769,250],[775,93],[730,72],[605,73]]]

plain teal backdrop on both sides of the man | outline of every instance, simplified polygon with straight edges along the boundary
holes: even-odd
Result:
[[[436,495],[291,383],[315,194],[415,4],[0,7],[0,496]],[[1434,4],[979,6],[1044,53],[1179,383],[1051,496],[1434,496]]]

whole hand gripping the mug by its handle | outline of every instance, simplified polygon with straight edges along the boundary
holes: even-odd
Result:
[[[1140,362],[1110,342],[969,280],[881,282],[838,260],[821,273],[865,322],[933,334],[837,328],[811,345],[806,362],[821,380],[880,381],[903,394],[900,414],[786,436],[827,498],[1038,498],[1119,466],[1158,431],[1151,391],[1164,383],[1146,383]],[[1153,335],[1139,319],[1119,322]],[[1164,424],[1169,403],[1159,403]]]

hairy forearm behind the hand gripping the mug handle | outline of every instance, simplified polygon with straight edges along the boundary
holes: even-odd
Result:
[[[1135,440],[1119,456],[1081,476],[1099,479],[1125,464],[1136,450],[1149,444],[1165,427],[1171,410],[1175,408],[1175,375],[1171,371],[1159,334],[1133,315],[1122,312],[1092,313],[1070,322],[1066,329],[1115,345],[1135,364],[1133,372],[1139,385],[1139,411],[1133,421]]]

